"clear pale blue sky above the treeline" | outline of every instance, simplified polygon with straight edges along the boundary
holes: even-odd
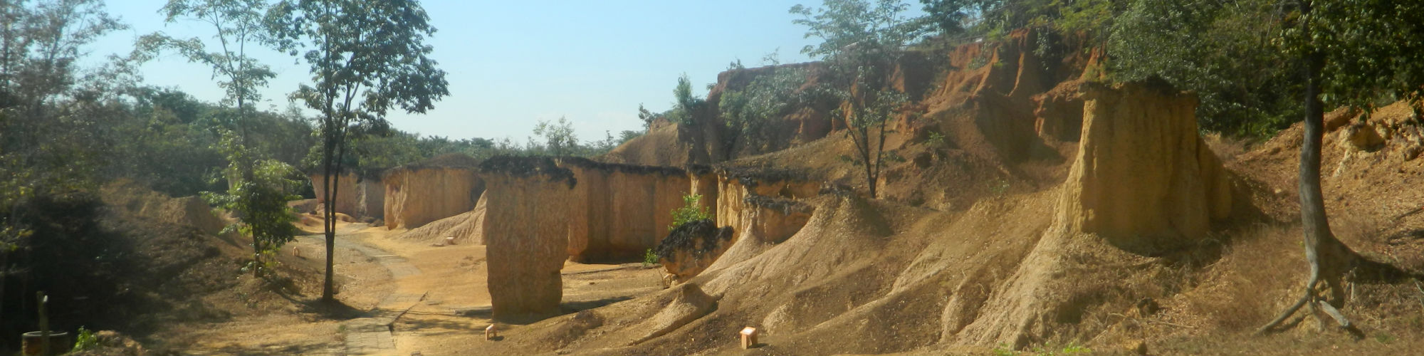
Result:
[[[127,53],[138,36],[164,31],[174,37],[211,38],[194,21],[165,24],[157,13],[167,0],[108,0],[108,11],[132,28],[117,31],[91,54]],[[450,95],[424,115],[392,114],[396,128],[453,140],[530,135],[538,120],[567,117],[582,141],[604,131],[641,130],[638,104],[652,111],[671,107],[672,87],[686,73],[698,95],[728,63],[748,67],[779,48],[783,63],[807,61],[800,54],[816,38],[786,10],[819,0],[600,0],[493,1],[426,0],[422,6],[439,28],[429,44],[449,74]],[[916,6],[917,7],[917,6]],[[215,41],[214,41],[215,43]],[[259,107],[285,108],[286,93],[309,81],[306,64],[275,51],[255,57],[278,78]],[[147,84],[178,87],[199,100],[218,101],[222,91],[211,70],[165,54],[144,66]]]

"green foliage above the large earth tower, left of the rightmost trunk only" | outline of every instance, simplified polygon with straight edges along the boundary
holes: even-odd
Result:
[[[1277,3],[1131,1],[1106,40],[1109,74],[1195,93],[1205,130],[1269,137],[1300,118],[1302,68],[1272,44],[1283,28]]]

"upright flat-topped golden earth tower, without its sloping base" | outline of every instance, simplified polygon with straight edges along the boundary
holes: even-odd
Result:
[[[1196,98],[1165,84],[1089,85],[1059,219],[1152,253],[1206,236],[1230,214],[1230,181],[1196,128]]]

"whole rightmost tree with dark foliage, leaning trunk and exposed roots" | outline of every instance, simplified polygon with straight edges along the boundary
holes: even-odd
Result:
[[[1418,115],[1424,95],[1424,3],[1410,0],[1296,0],[1296,26],[1280,37],[1304,64],[1304,140],[1300,144],[1300,219],[1310,275],[1304,293],[1257,332],[1279,326],[1302,306],[1324,310],[1341,328],[1358,332],[1340,313],[1343,278],[1360,258],[1330,232],[1320,188],[1324,105],[1368,112],[1381,98],[1408,100]],[[1330,289],[1326,299],[1316,288]],[[1317,316],[1319,318],[1319,316]],[[1324,320],[1321,320],[1324,323]]]

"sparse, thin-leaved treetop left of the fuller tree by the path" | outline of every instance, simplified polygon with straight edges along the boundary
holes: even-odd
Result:
[[[212,26],[214,38],[218,41],[216,50],[209,51],[202,38],[192,37],[179,40],[162,33],[148,34],[138,40],[137,47],[155,53],[159,50],[174,50],[187,57],[212,67],[218,85],[226,91],[224,104],[235,105],[235,125],[242,135],[242,142],[251,145],[246,121],[251,117],[249,103],[259,101],[262,95],[258,90],[266,87],[268,80],[276,73],[248,56],[249,46],[273,44],[265,21],[266,0],[169,0],[159,13],[165,21],[178,20],[199,21]],[[244,179],[251,179],[251,174],[244,174]]]

